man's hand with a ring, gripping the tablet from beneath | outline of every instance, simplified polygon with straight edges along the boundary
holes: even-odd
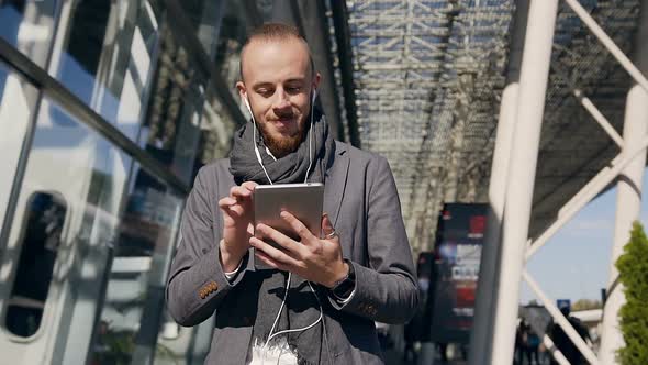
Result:
[[[294,232],[300,236],[297,242],[281,232],[265,225],[257,225],[257,235],[250,237],[249,243],[255,248],[255,254],[268,266],[284,272],[294,273],[306,280],[319,283],[332,288],[336,281],[348,274],[349,267],[342,257],[339,237],[334,235],[331,239],[320,239],[289,212],[281,212]],[[328,215],[322,217],[322,230],[324,235],[331,235],[333,225]],[[275,241],[283,250],[277,250],[262,241],[268,239]]]

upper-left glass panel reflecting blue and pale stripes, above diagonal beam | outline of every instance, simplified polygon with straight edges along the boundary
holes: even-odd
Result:
[[[80,1],[53,69],[77,97],[136,140],[157,59],[158,22],[148,1]],[[67,24],[67,25],[64,25]]]

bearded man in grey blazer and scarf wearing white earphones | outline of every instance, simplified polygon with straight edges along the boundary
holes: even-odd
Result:
[[[375,321],[406,322],[418,300],[389,165],[333,140],[313,107],[320,75],[297,30],[262,25],[244,46],[241,70],[252,120],[230,158],[198,174],[169,311],[182,325],[216,312],[208,364],[381,364]],[[257,184],[304,180],[325,186],[322,237],[289,213],[282,218],[300,242],[252,225]],[[255,254],[273,269],[255,269]]]

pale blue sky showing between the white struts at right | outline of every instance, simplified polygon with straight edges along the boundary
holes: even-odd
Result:
[[[643,191],[648,191],[648,169],[644,172]],[[527,270],[545,294],[556,299],[601,300],[607,286],[612,240],[616,212],[616,188],[585,206],[527,264]],[[648,223],[648,200],[641,204],[640,221]],[[521,303],[536,299],[522,284]],[[539,300],[538,300],[539,302]]]

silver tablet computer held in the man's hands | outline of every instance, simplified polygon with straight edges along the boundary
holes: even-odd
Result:
[[[254,226],[264,223],[299,241],[300,237],[280,215],[286,210],[319,237],[323,202],[324,185],[321,182],[258,185],[254,191]],[[280,248],[275,242],[268,244]],[[256,256],[255,267],[269,268]]]

